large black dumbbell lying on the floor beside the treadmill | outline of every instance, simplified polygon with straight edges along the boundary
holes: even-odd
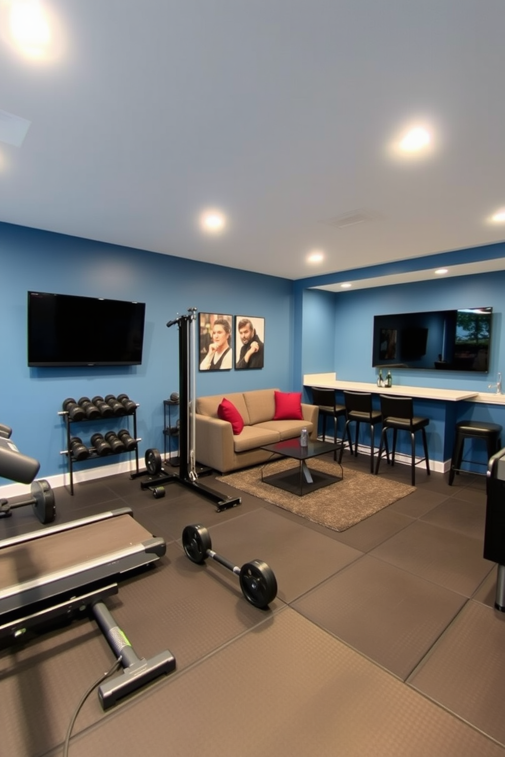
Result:
[[[207,528],[203,525],[187,525],[182,531],[182,547],[192,562],[201,565],[207,557],[224,565],[238,575],[242,593],[254,607],[267,607],[277,596],[277,581],[273,570],[263,560],[252,560],[238,568],[226,558],[212,550],[212,542]]]

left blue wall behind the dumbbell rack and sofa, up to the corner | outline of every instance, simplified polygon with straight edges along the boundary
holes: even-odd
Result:
[[[39,459],[39,477],[67,470],[66,458],[60,454],[66,447],[64,423],[58,416],[66,397],[128,394],[140,403],[141,459],[149,447],[163,450],[163,400],[179,391],[179,333],[176,326],[167,329],[166,323],[189,307],[265,319],[263,370],[197,372],[197,394],[273,386],[291,389],[293,296],[287,279],[6,223],[0,223],[0,258],[0,422],[14,429],[12,440],[23,453]],[[145,302],[142,366],[28,368],[28,290]],[[118,428],[115,423],[86,426],[88,436]],[[83,429],[76,425],[73,431],[80,435]],[[114,462],[121,459],[128,458],[114,457]],[[79,464],[79,470],[96,464]]]

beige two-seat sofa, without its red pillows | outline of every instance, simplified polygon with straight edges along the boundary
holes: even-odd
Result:
[[[271,453],[262,444],[274,444],[300,436],[307,428],[311,439],[317,437],[318,408],[301,404],[303,420],[274,421],[275,389],[256,389],[231,394],[198,397],[195,403],[195,456],[198,463],[226,473],[264,463]],[[232,425],[217,417],[223,397],[232,402],[244,419],[244,428],[233,435]]]

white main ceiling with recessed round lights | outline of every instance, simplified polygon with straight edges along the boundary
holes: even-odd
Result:
[[[503,0],[46,0],[39,59],[10,6],[1,221],[289,279],[505,238]]]

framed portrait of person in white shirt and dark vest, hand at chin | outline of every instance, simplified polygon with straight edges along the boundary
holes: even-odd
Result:
[[[233,316],[198,313],[198,367],[201,371],[231,371]]]

